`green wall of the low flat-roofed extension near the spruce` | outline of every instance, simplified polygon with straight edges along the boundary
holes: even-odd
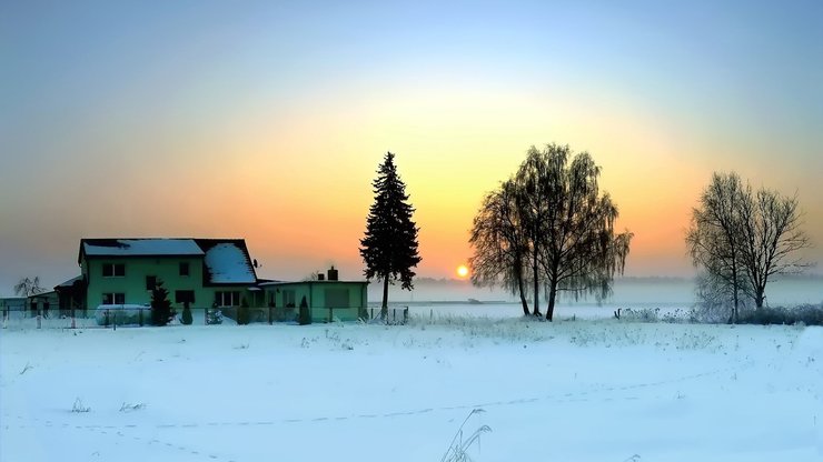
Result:
[[[277,307],[286,307],[287,291],[295,293],[295,307],[299,308],[303,298],[311,309],[313,322],[326,322],[329,320],[329,307],[326,294],[328,290],[346,292],[347,307],[331,307],[331,315],[341,321],[356,321],[360,315],[360,309],[367,304],[367,291],[365,282],[350,281],[306,281],[269,285],[266,288],[266,301],[275,300]],[[329,303],[331,304],[331,303]]]

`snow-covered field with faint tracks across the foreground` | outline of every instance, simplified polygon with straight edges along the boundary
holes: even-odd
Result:
[[[88,409],[88,412],[72,412]],[[823,329],[0,330],[0,460],[821,461]]]

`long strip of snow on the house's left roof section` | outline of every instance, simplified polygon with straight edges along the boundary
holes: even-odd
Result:
[[[194,239],[83,239],[87,255],[202,255]]]

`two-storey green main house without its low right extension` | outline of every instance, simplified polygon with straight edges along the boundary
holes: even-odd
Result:
[[[78,264],[81,275],[54,288],[61,308],[148,305],[160,282],[178,309],[256,301],[249,289],[257,274],[242,239],[82,239]]]

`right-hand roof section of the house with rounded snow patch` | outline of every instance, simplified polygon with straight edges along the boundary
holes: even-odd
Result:
[[[205,284],[255,284],[257,274],[244,239],[196,239],[206,252]]]

